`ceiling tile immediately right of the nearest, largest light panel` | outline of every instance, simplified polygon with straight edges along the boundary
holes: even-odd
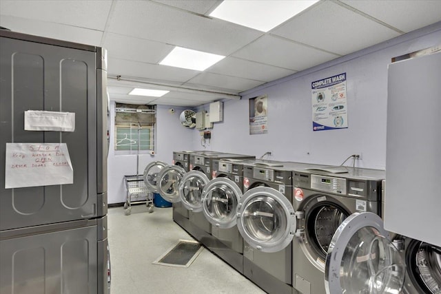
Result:
[[[271,34],[341,55],[399,35],[331,1],[323,1],[271,31]]]

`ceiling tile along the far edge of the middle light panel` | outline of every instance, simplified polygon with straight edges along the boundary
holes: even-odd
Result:
[[[165,65],[153,65],[123,59],[109,59],[107,75],[120,75],[123,78],[140,77],[156,81],[185,82],[199,72],[194,70],[183,70]]]

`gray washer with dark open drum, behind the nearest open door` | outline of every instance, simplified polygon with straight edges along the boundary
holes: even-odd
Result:
[[[334,233],[356,211],[380,215],[384,176],[381,170],[353,167],[293,171],[293,206],[298,220],[292,242],[292,279],[297,291],[325,293],[325,259]]]

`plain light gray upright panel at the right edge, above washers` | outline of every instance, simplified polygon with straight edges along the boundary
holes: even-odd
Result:
[[[433,224],[441,223],[439,48],[389,65],[384,203],[388,231],[435,246],[441,246],[440,231],[433,231]],[[418,97],[424,102],[416,102]]]

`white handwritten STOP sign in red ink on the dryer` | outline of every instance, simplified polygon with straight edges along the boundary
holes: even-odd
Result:
[[[66,143],[6,143],[5,188],[74,182]]]

